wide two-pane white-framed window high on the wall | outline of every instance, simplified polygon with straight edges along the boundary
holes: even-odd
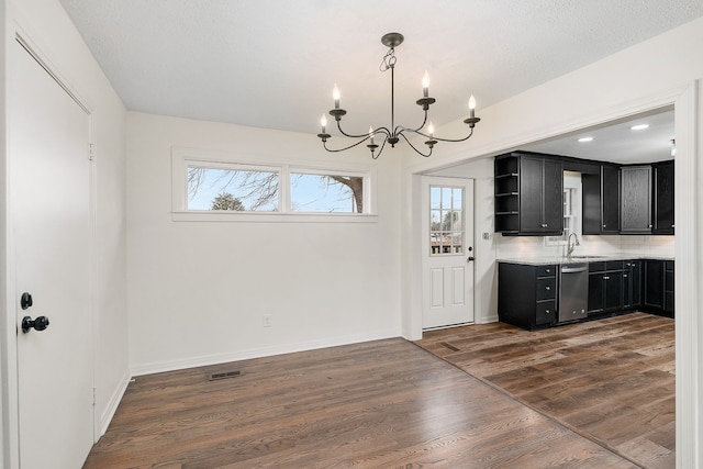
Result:
[[[180,148],[171,163],[174,220],[372,221],[375,166],[233,163]]]

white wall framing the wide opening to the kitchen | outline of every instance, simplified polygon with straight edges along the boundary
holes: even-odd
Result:
[[[702,110],[696,102],[703,77],[703,19],[680,26],[650,41],[637,44],[603,60],[535,87],[487,109],[477,110],[482,121],[476,135],[462,145],[438,145],[433,157],[406,160],[403,185],[404,268],[416,267],[421,239],[412,230],[416,224],[416,204],[411,194],[417,190],[416,175],[448,167],[468,159],[494,156],[567,132],[637,114],[676,102],[677,105],[677,460],[678,467],[698,467],[703,462],[703,322],[699,320],[703,291],[703,256],[699,250],[699,221],[703,204],[698,198],[698,161]],[[479,98],[480,102],[480,96]],[[437,135],[464,132],[457,121],[437,130]],[[681,142],[680,142],[681,138]],[[679,147],[679,144],[683,145]],[[422,335],[419,319],[417,276],[403,279],[404,336]]]

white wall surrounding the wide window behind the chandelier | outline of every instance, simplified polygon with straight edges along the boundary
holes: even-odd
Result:
[[[378,216],[368,223],[174,221],[174,146],[261,164],[377,166]],[[134,372],[399,336],[398,157],[339,156],[313,135],[129,113]]]

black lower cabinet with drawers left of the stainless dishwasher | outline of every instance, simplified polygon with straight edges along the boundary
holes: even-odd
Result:
[[[557,271],[555,265],[500,263],[499,321],[531,331],[553,324],[557,319]]]

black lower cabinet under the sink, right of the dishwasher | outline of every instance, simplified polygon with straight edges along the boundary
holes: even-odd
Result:
[[[589,315],[623,309],[623,261],[589,264]]]

